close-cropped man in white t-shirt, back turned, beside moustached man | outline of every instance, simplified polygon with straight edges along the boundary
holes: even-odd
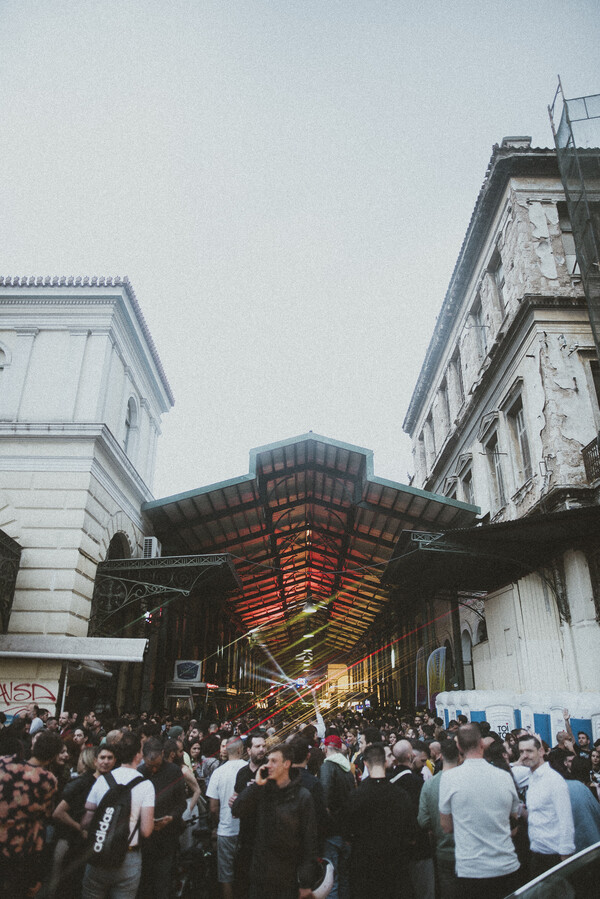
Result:
[[[510,835],[519,797],[512,777],[483,757],[477,724],[457,734],[464,762],[440,782],[440,824],[454,833],[458,894],[462,899],[503,899],[519,886],[519,860]]]

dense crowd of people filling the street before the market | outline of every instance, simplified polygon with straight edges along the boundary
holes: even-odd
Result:
[[[568,710],[552,747],[426,711],[324,720],[316,697],[302,720],[3,718],[0,895],[15,899],[169,899],[200,817],[223,899],[502,899],[600,840],[600,740]]]

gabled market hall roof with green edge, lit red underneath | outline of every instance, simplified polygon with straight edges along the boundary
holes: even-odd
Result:
[[[403,530],[465,527],[479,511],[376,478],[370,450],[312,432],[252,450],[247,475],[143,509],[164,552],[231,554],[243,591],[230,603],[288,673],[299,657],[343,658],[373,623]]]

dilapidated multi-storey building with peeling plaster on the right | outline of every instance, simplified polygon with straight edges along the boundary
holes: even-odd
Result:
[[[481,569],[515,563],[495,590],[477,589],[470,571],[426,591],[434,644],[459,660],[447,689],[600,692],[599,394],[556,154],[506,138],[404,421],[417,486],[474,503],[484,529],[498,526]],[[439,618],[445,587],[461,603],[453,625]]]

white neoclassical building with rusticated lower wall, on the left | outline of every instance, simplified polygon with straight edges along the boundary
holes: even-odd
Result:
[[[0,707],[52,705],[58,638],[87,638],[98,563],[142,554],[172,404],[127,279],[0,279]],[[134,658],[141,642],[73,651]]]

